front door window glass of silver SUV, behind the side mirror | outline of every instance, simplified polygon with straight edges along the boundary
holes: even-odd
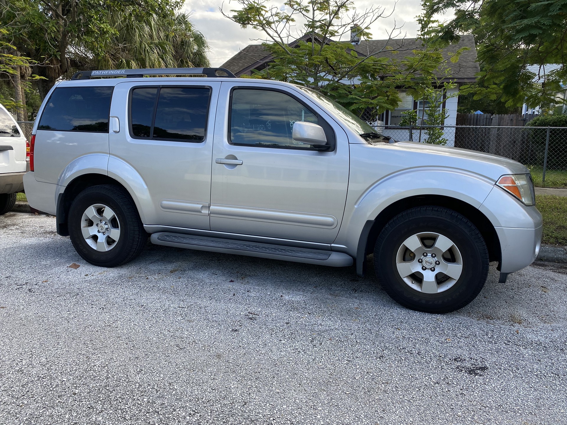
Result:
[[[232,92],[230,140],[234,145],[310,148],[291,138],[295,121],[318,117],[293,97],[269,90]]]

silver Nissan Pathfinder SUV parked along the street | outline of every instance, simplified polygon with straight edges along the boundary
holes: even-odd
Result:
[[[393,299],[441,313],[479,294],[489,262],[505,282],[538,253],[522,164],[394,142],[304,87],[222,69],[88,71],[38,116],[29,203],[97,266],[133,260],[148,235],[358,275],[374,254]]]

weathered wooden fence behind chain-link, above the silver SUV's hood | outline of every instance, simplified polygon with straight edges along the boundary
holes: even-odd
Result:
[[[524,164],[536,160],[533,132],[523,129],[537,115],[457,114],[455,146],[506,156]],[[539,143],[538,143],[539,145]]]

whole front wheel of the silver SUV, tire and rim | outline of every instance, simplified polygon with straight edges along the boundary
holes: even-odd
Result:
[[[483,236],[463,215],[417,207],[384,226],[374,249],[382,287],[405,307],[447,313],[470,303],[488,276]]]

